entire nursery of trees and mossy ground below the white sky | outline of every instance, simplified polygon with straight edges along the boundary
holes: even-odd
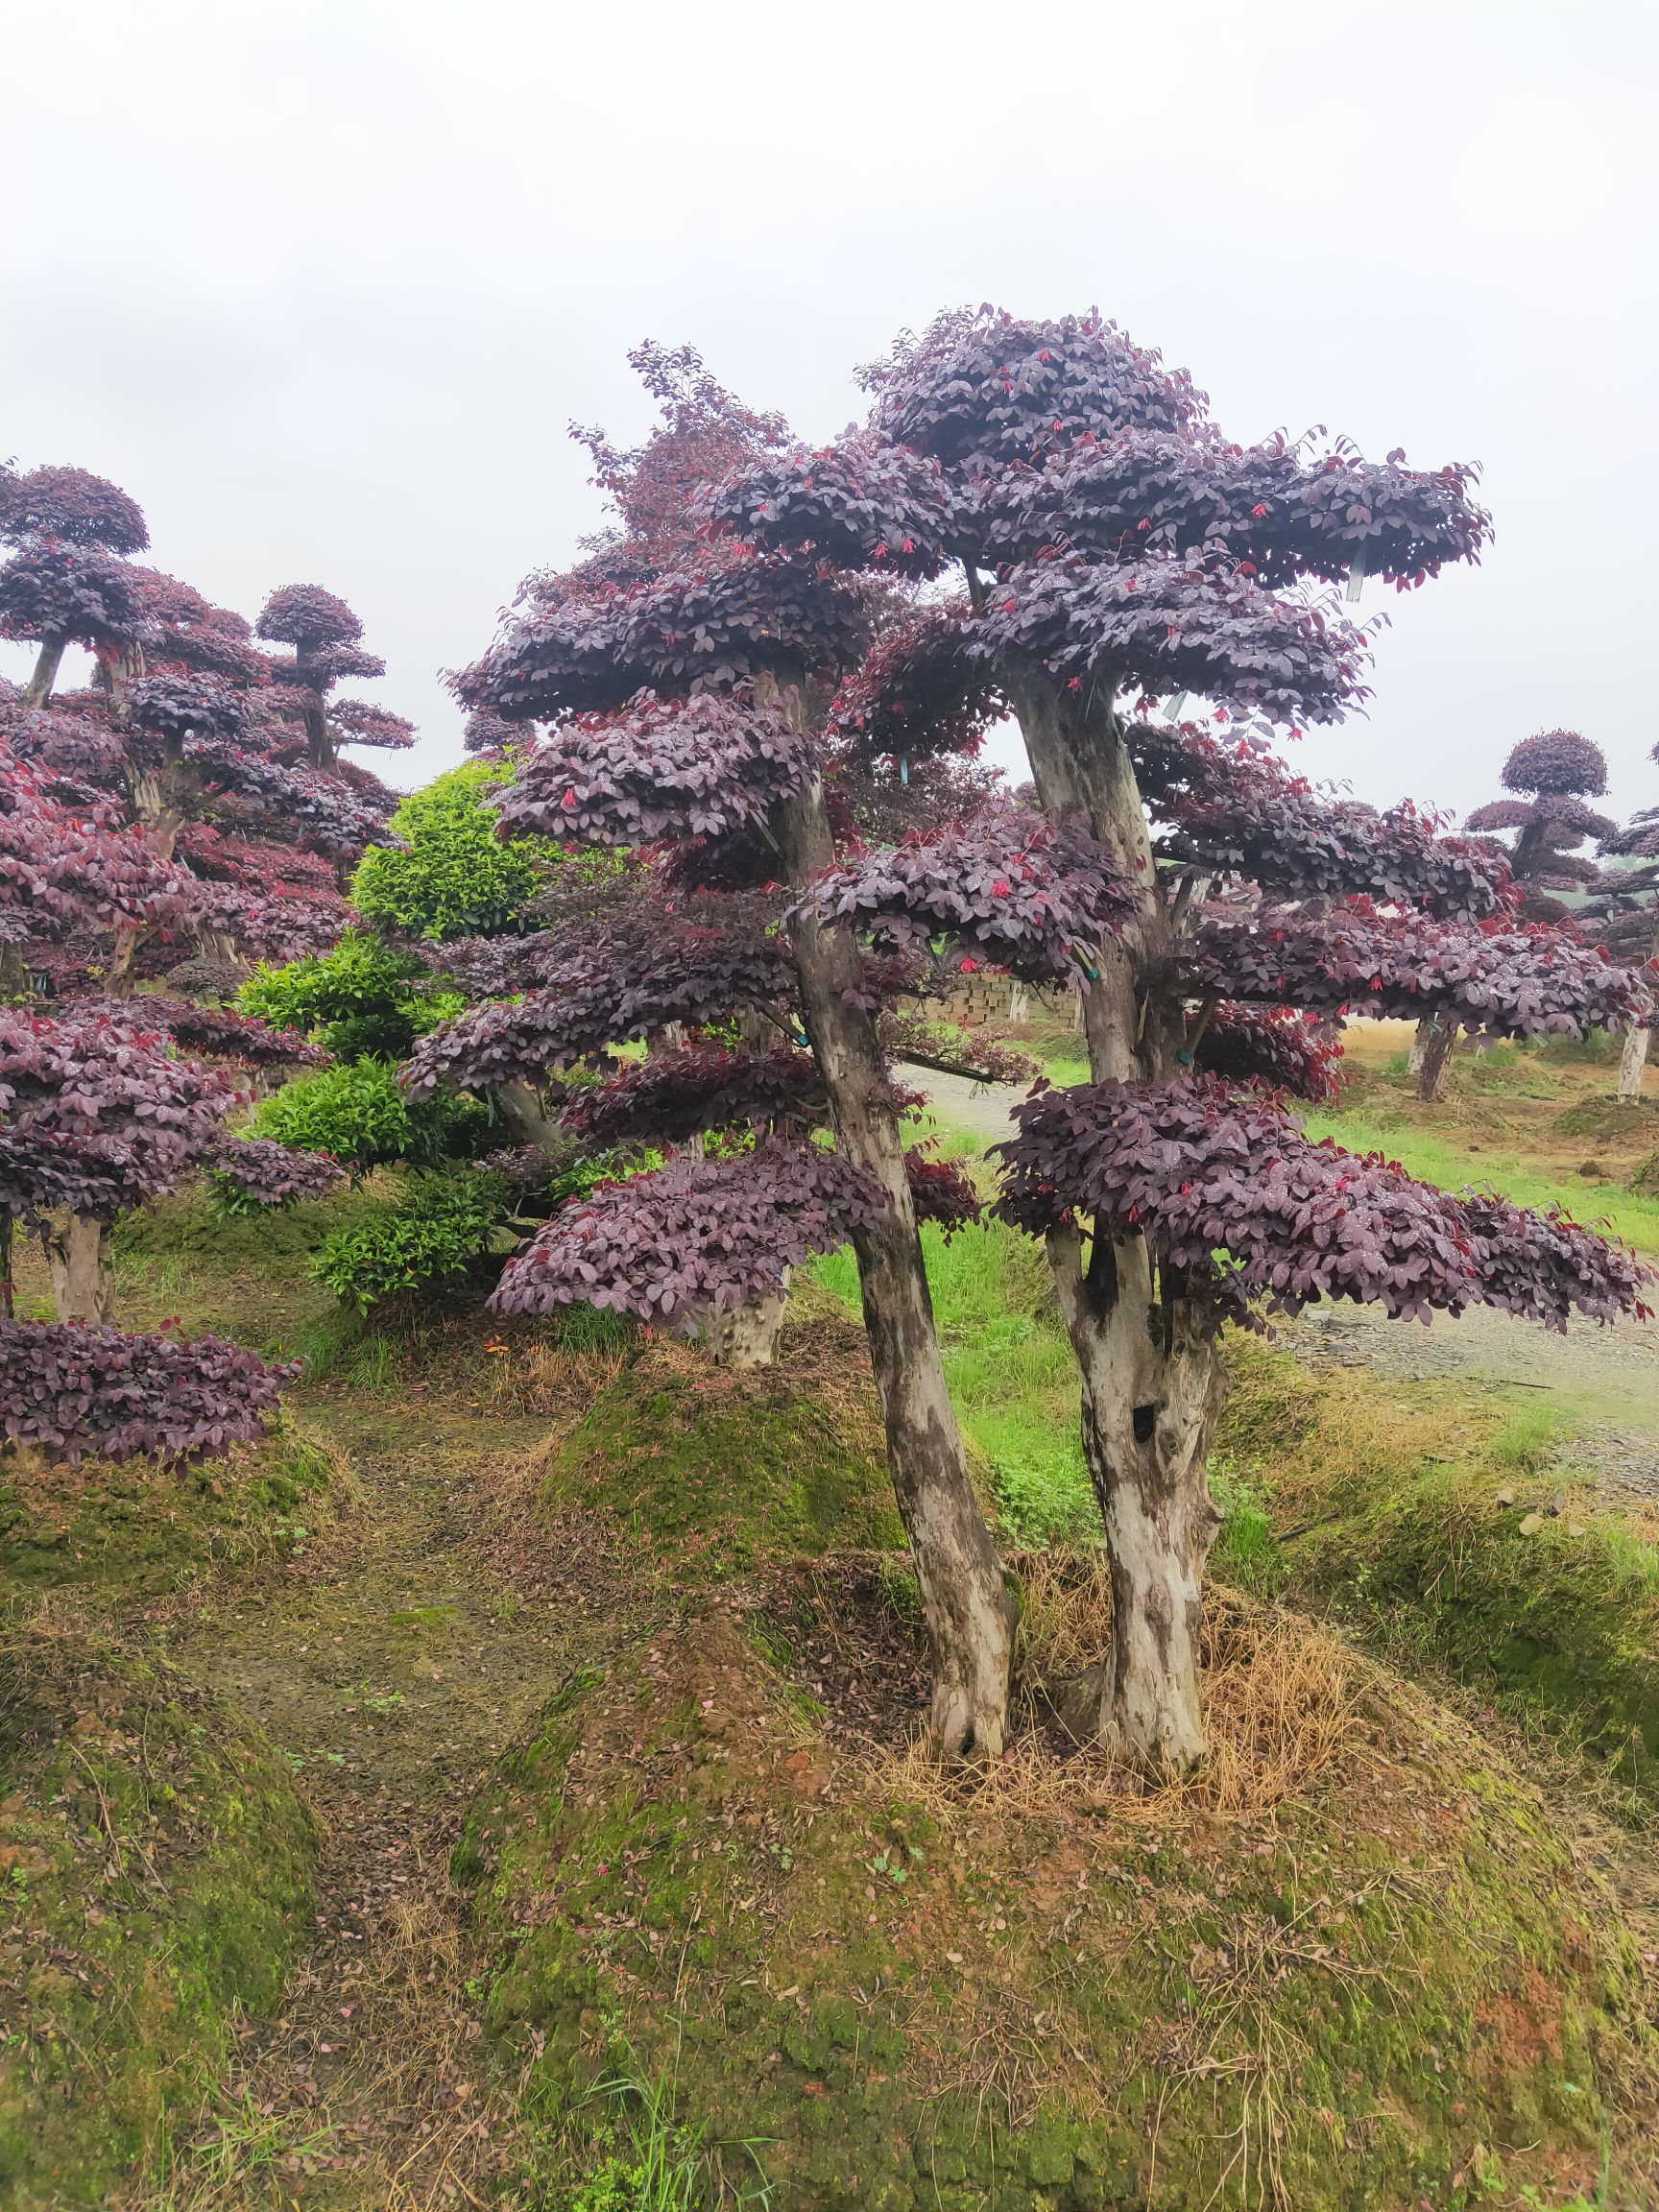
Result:
[[[414,790],[0,465],[0,2212],[1652,2208],[1659,818],[1279,748],[1478,471],[628,367]]]

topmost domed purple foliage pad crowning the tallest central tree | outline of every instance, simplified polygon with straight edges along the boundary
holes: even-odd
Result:
[[[863,372],[876,427],[949,465],[1029,462],[1124,427],[1183,431],[1203,394],[1186,369],[1097,314],[1018,323],[993,307],[940,314]]]

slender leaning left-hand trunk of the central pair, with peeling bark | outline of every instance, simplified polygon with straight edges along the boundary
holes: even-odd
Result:
[[[779,703],[803,714],[796,690],[783,690]],[[816,776],[774,812],[772,827],[792,883],[807,883],[834,863]],[[858,1234],[854,1248],[887,1458],[933,1657],[933,1741],[947,1754],[975,1750],[995,1759],[1009,1714],[1009,1593],[945,1387],[905,1146],[874,1015],[856,1004],[863,987],[858,947],[845,929],[823,929],[810,916],[790,922],[790,942],[838,1146],[887,1194],[876,1225]]]

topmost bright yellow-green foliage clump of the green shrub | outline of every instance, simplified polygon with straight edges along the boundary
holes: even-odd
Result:
[[[500,761],[465,761],[411,792],[389,823],[403,845],[372,845],[358,863],[358,911],[418,938],[502,936],[551,863],[615,867],[608,856],[566,858],[551,838],[498,838],[489,794],[511,776]]]

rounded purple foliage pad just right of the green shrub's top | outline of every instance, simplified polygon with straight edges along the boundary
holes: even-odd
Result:
[[[805,741],[774,708],[743,692],[641,690],[615,714],[553,730],[495,805],[507,834],[655,845],[759,830],[810,774]]]

